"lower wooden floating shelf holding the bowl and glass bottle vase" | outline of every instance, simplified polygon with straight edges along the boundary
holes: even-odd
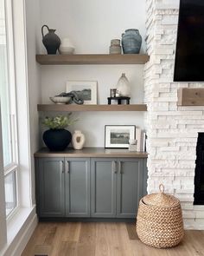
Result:
[[[76,105],[76,104],[39,104],[38,111],[147,111],[146,104],[132,105]]]

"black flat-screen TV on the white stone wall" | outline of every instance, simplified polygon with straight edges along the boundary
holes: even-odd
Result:
[[[204,82],[204,0],[181,0],[175,82]]]

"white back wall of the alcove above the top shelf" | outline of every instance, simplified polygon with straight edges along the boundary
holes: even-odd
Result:
[[[77,53],[108,53],[112,38],[137,28],[145,35],[145,1],[43,0],[41,24],[70,36]],[[46,52],[46,51],[44,51]]]

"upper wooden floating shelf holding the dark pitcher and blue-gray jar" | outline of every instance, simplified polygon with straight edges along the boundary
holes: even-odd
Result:
[[[36,55],[41,65],[144,64],[149,59],[150,56],[144,54]]]

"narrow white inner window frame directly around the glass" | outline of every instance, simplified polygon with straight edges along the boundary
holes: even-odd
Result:
[[[18,142],[17,142],[17,116],[16,116],[16,74],[15,74],[15,52],[14,52],[14,31],[13,31],[13,16],[11,0],[4,0],[4,23],[5,23],[5,41],[6,41],[6,61],[7,61],[7,81],[9,92],[9,112],[10,112],[10,148],[11,148],[11,162],[9,165],[3,167],[4,180],[5,178],[15,173],[16,186],[16,207],[14,207],[8,215],[6,220],[9,221],[17,212],[19,202],[19,166],[18,166]],[[5,187],[5,185],[4,185]],[[4,188],[5,189],[5,188]]]

